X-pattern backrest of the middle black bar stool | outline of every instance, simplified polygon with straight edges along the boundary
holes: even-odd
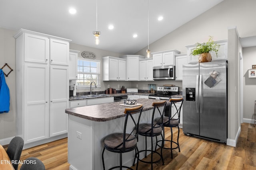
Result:
[[[164,110],[165,110],[166,104],[167,104],[166,101],[153,102],[152,103],[152,106],[154,106],[153,113],[152,113],[152,122],[151,122],[151,129],[152,130],[150,129],[152,134],[154,133],[155,128],[162,127],[162,125],[163,125],[163,116],[164,116]],[[164,107],[163,111],[160,111],[159,107]],[[160,115],[160,117],[162,119],[160,124],[156,124],[154,122],[154,117],[155,117],[156,114]],[[156,116],[158,116],[158,115],[156,115]]]

